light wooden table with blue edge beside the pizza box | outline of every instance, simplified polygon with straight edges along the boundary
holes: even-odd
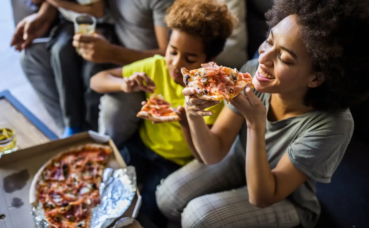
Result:
[[[19,149],[58,139],[7,90],[0,92],[0,128],[4,127],[15,130]]]

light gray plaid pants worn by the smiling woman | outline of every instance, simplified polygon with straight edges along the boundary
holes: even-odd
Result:
[[[249,203],[245,153],[233,146],[215,165],[193,160],[169,175],[156,190],[156,202],[183,228],[290,228],[299,225],[295,206],[282,200],[258,208]],[[236,152],[237,151],[237,152]]]

